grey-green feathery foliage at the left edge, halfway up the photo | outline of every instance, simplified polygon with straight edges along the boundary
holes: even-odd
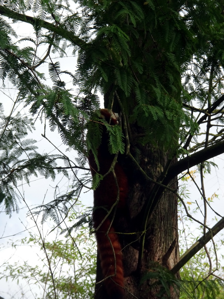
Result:
[[[30,176],[38,174],[54,180],[56,160],[62,156],[39,154],[36,140],[26,138],[34,129],[33,120],[19,112],[14,117],[5,116],[2,105],[0,109],[0,200],[4,200],[5,211],[11,216],[12,210],[18,209],[19,181],[29,184]]]

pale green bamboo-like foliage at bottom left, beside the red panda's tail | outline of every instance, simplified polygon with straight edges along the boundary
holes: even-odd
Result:
[[[76,217],[75,212],[70,213],[68,222],[74,222]],[[96,271],[94,237],[86,235],[86,227],[83,225],[79,225],[79,230],[70,237],[59,238],[59,231],[53,240],[52,233],[44,236],[44,232],[41,235],[30,232],[28,238],[12,242],[11,246],[15,249],[25,246],[36,251],[38,248],[39,261],[35,266],[30,260],[24,261],[24,264],[21,261],[7,261],[1,266],[0,280],[17,280],[18,284],[27,283],[28,280],[32,294],[37,299],[92,298]],[[34,285],[39,288],[33,288]],[[17,294],[20,291],[22,295],[22,290],[18,290]]]

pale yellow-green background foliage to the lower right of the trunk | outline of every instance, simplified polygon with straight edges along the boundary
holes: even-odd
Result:
[[[207,161],[206,161],[207,162]],[[203,172],[210,172],[210,166],[214,164],[205,163],[206,167]],[[199,170],[193,170],[190,172],[191,177],[194,180],[197,179],[197,172]],[[188,210],[191,211],[191,215],[195,218],[199,218],[200,205],[199,200],[197,205],[191,200],[190,193],[187,190],[187,181],[191,179],[189,175],[185,175],[182,178],[182,182],[179,186],[180,195],[182,199],[186,200]],[[207,201],[212,202],[213,198],[217,198],[216,193],[207,198]],[[191,201],[189,201],[191,200]],[[201,234],[201,227],[195,229],[192,233],[191,221],[188,217],[184,216],[185,211],[183,205],[179,202],[179,249],[180,256],[190,247],[190,244],[197,241],[198,235]],[[195,225],[194,225],[195,226]],[[197,233],[198,231],[198,233]],[[219,249],[222,240],[214,240],[216,246],[216,254],[220,255]],[[221,260],[216,261],[216,255],[214,254],[214,246],[211,242],[206,244],[208,254],[204,248],[202,248],[197,254],[194,255],[180,270],[180,297],[179,299],[218,299],[223,298],[224,295],[224,283],[223,283],[223,267],[221,266]],[[209,261],[209,258],[210,261]],[[217,265],[215,265],[217,263]],[[217,269],[211,266],[216,267]],[[214,271],[215,270],[215,271]],[[214,274],[214,276],[213,276]]]

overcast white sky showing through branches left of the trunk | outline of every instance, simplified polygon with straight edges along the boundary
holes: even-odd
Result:
[[[12,26],[19,28],[20,37],[32,35],[33,28],[28,24],[17,23],[17,24],[12,24]],[[28,30],[28,28],[30,29]],[[43,50],[45,50],[45,48],[46,47],[44,47]],[[41,54],[39,55],[41,56]],[[74,68],[76,65],[76,57],[73,56],[69,57],[68,55],[68,57],[64,57],[63,60],[57,58],[56,61],[61,61],[62,63],[61,68],[63,70],[68,70],[74,73]],[[39,69],[39,71],[48,74],[47,65],[43,65]],[[70,77],[67,76],[65,77],[64,80],[65,82],[67,82],[66,80],[70,80]],[[74,89],[72,84],[70,84],[70,88]],[[5,114],[8,115],[13,106],[13,101],[16,99],[16,89],[13,86],[11,86],[10,83],[8,83],[8,86],[6,86],[6,88],[0,86],[0,92],[1,92],[1,103],[3,103]],[[28,108],[24,109],[23,104],[21,103],[17,107],[17,111],[20,111],[21,114],[24,115],[27,114]],[[27,138],[36,139],[37,141],[36,145],[39,147],[38,152],[59,154],[59,152],[53,146],[51,146],[48,143],[48,141],[45,140],[45,138],[41,136],[41,134],[43,134],[44,132],[44,124],[41,124],[41,122],[37,120],[35,123],[35,127],[36,127],[36,131],[34,131],[33,134],[31,134]],[[50,132],[50,129],[47,128],[46,136],[62,152],[66,151],[67,147],[64,144],[62,144],[61,138],[57,133],[57,130],[55,132]],[[69,156],[70,159],[73,161],[74,158],[77,157],[76,153],[73,150],[70,152],[66,152],[66,155]],[[61,166],[64,165],[62,164]],[[60,192],[63,193],[69,185],[71,185],[71,182],[69,182],[67,178],[65,177],[63,178],[62,175],[57,175],[55,181],[52,181],[50,178],[46,180],[45,178],[39,176],[38,179],[36,177],[33,177],[33,179],[31,179],[30,187],[23,182],[22,186],[20,187],[20,191],[22,194],[24,194],[26,204],[32,208],[36,205],[40,205],[43,202],[43,200],[45,203],[53,200],[56,186],[58,186],[57,190],[60,190]],[[86,192],[87,190],[84,191]],[[92,191],[87,193],[82,192],[80,199],[82,199],[82,203],[84,205],[92,206],[93,205]],[[3,263],[6,261],[10,261],[10,263],[19,261],[21,264],[23,264],[24,261],[28,260],[28,262],[33,265],[35,264],[39,265],[39,257],[38,257],[38,252],[40,251],[39,248],[37,248],[37,252],[35,252],[29,246],[21,246],[17,248],[12,248],[10,246],[12,242],[15,242],[18,239],[22,239],[24,237],[29,236],[27,229],[30,231],[37,231],[34,227],[33,221],[30,220],[29,217],[27,217],[28,208],[26,207],[26,204],[21,200],[21,203],[19,204],[19,213],[17,214],[16,212],[14,212],[11,218],[9,218],[9,216],[4,213],[3,207],[0,208],[0,213],[1,213],[0,268],[1,265],[3,265]],[[39,225],[40,227],[42,227],[42,225],[40,224],[40,220],[41,219],[39,219]],[[53,223],[51,223],[50,225],[48,223],[44,225],[44,231],[45,231],[44,234],[46,234],[46,236],[52,227],[53,227]],[[52,233],[51,235],[47,236],[48,239],[51,238],[54,239],[55,234]],[[61,236],[60,238],[63,239],[64,237]],[[14,281],[8,280],[8,282],[4,280],[0,280],[0,296],[5,299],[11,299],[11,298],[20,299],[22,298],[22,294],[24,294],[24,298],[33,298],[34,295],[32,294],[32,292],[34,294],[35,292],[33,289],[31,292],[29,289],[30,287],[28,286],[28,284],[27,283],[24,284],[24,282],[22,285],[20,284],[17,285],[16,280]]]

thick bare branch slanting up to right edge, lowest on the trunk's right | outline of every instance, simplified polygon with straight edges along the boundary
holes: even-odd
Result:
[[[217,222],[211,231],[208,231],[204,236],[200,237],[184,254],[180,257],[179,262],[171,269],[174,274],[177,273],[183,265],[185,265],[191,257],[193,257],[208,241],[211,240],[219,231],[224,228],[224,218]]]

